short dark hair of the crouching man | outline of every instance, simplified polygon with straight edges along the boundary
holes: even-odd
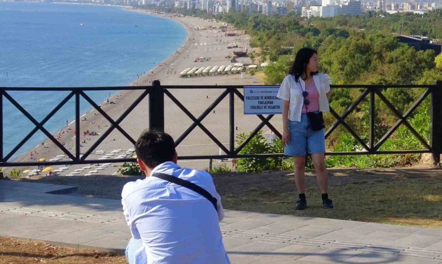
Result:
[[[135,152],[144,164],[153,169],[161,163],[173,160],[175,142],[165,132],[146,130],[135,143]]]

